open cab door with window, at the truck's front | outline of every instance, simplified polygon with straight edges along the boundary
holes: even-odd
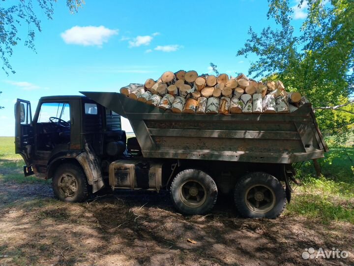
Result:
[[[25,176],[33,174],[32,171],[32,145],[33,127],[30,102],[17,99],[15,103],[15,153],[20,154],[25,161]]]

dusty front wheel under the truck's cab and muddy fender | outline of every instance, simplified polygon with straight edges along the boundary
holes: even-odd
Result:
[[[80,166],[63,164],[58,167],[52,180],[57,199],[66,202],[83,202],[89,196],[89,184]]]

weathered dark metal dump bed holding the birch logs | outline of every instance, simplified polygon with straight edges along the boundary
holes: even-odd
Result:
[[[82,94],[130,121],[145,158],[291,164],[328,150],[310,103],[290,114],[175,114],[119,93]]]

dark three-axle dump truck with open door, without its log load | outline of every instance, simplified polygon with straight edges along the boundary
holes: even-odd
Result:
[[[52,179],[55,196],[82,202],[105,186],[170,192],[183,214],[233,195],[243,217],[276,218],[291,199],[293,164],[328,150],[311,103],[289,114],[175,114],[119,93],[15,104],[15,149],[25,176]],[[129,120],[135,137],[121,129]]]

